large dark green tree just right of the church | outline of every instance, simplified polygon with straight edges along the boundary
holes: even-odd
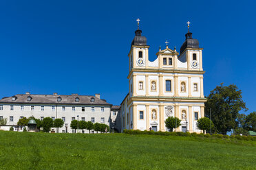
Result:
[[[237,127],[237,115],[240,110],[248,110],[242,99],[242,91],[237,86],[216,86],[211,90],[205,102],[205,117],[210,118],[210,109],[212,110],[211,120],[215,125],[217,132],[226,134]]]

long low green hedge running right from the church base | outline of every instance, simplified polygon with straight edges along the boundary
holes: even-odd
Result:
[[[240,136],[240,135],[223,135],[223,134],[213,134],[212,136],[210,134],[197,134],[195,132],[189,133],[189,132],[154,132],[153,130],[124,130],[125,134],[151,134],[151,135],[160,135],[160,136],[189,136],[189,137],[201,137],[201,138],[236,138],[237,140],[243,140],[243,141],[256,141],[256,136]]]

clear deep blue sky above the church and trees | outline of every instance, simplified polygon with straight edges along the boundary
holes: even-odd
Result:
[[[136,19],[149,59],[168,40],[180,49],[191,22],[203,51],[204,94],[236,84],[256,111],[255,1],[1,1],[0,97],[94,95],[118,105],[128,93]]]

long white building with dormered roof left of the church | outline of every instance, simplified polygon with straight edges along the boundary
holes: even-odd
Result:
[[[72,133],[70,123],[74,119],[92,121],[93,123],[111,123],[111,104],[100,95],[32,95],[30,93],[3,97],[0,100],[0,119],[7,118],[7,125],[17,126],[19,119],[23,117],[35,117],[43,120],[44,117],[63,119],[64,125],[58,132]],[[114,119],[112,121],[115,121]],[[0,130],[4,127],[0,127]],[[55,128],[52,128],[56,132]],[[87,132],[87,130],[85,130]]]

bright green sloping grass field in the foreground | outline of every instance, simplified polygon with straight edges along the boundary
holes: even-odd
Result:
[[[255,169],[253,141],[0,132],[0,169]]]

